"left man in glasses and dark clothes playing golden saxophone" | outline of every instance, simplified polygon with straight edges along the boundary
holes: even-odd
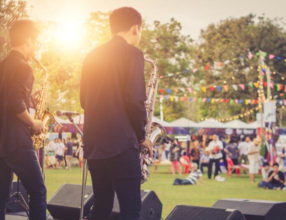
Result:
[[[0,220],[5,219],[13,172],[29,193],[29,219],[46,219],[46,187],[31,138],[31,130],[40,134],[44,127],[29,114],[37,103],[28,60],[40,46],[39,33],[33,21],[16,21],[10,29],[12,50],[0,63]]]

